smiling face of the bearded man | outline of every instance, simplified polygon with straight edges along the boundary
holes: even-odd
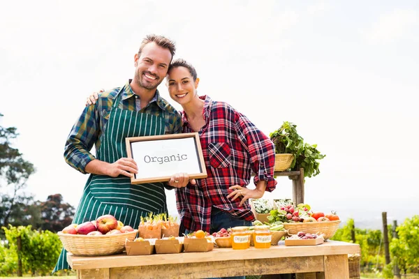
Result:
[[[142,49],[140,56],[135,54],[137,68],[134,82],[148,90],[156,89],[166,77],[171,59],[170,50],[159,47],[154,42],[148,43]]]

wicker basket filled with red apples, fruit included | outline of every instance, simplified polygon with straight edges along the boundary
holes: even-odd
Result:
[[[125,241],[133,241],[138,230],[124,225],[112,215],[72,224],[58,232],[64,249],[78,256],[101,256],[124,251]]]

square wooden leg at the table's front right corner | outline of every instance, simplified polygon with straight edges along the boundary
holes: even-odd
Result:
[[[317,279],[349,279],[348,255],[325,256],[324,276],[317,275]]]

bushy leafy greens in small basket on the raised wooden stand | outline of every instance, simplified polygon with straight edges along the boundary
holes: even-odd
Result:
[[[303,168],[304,177],[316,176],[320,173],[318,160],[325,158],[325,155],[317,150],[317,144],[311,145],[304,142],[304,139],[298,135],[297,126],[294,123],[284,121],[278,130],[270,133],[270,139],[275,145],[275,153],[278,156],[278,159],[275,158],[276,171]],[[289,165],[286,169],[279,159],[279,157],[287,157],[284,154],[288,154],[288,157],[292,155],[292,159],[288,159]],[[277,168],[277,162],[282,166],[281,169]]]

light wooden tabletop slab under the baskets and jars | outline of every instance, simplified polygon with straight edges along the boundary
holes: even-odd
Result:
[[[159,264],[185,264],[194,262],[234,261],[242,259],[272,259],[287,257],[311,257],[323,255],[343,255],[360,252],[358,244],[341,241],[326,241],[318,246],[285,246],[279,241],[278,246],[269,249],[249,248],[233,250],[214,248],[210,252],[181,252],[179,254],[156,254],[146,256],[119,255],[101,257],[80,257],[67,254],[67,261],[72,269],[103,269],[126,266],[153,266]]]

